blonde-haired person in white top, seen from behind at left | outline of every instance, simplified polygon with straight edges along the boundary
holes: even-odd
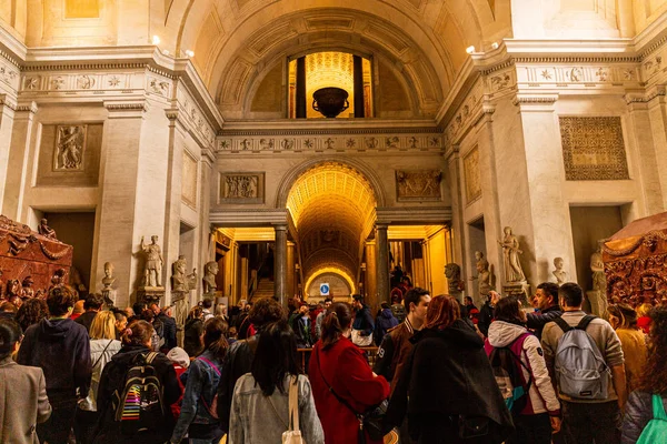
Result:
[[[98,422],[97,394],[100,376],[111,356],[120,351],[120,341],[116,340],[116,315],[113,312],[99,312],[90,325],[90,362],[92,377],[88,397],[79,401],[74,416],[77,444],[92,443],[92,433]]]

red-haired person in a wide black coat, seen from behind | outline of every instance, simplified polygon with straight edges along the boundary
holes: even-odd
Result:
[[[414,342],[389,403],[387,424],[400,425],[407,413],[411,438],[424,444],[505,441],[512,431],[511,416],[484,342],[461,320],[458,301],[434,297]]]

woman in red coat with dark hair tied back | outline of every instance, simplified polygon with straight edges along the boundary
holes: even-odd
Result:
[[[387,380],[372,373],[361,350],[348,339],[351,327],[350,305],[341,302],[331,305],[322,321],[322,337],[315,344],[310,359],[308,376],[326,444],[359,442],[359,421],[336,395],[357,413],[366,412],[389,396]],[[366,442],[382,443],[368,435]]]

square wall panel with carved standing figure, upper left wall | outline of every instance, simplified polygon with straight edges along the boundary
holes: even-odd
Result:
[[[42,125],[37,185],[96,186],[101,148],[101,123]]]

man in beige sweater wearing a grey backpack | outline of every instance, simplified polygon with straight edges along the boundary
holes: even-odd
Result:
[[[581,310],[576,283],[559,289],[563,316],[548,323],[541,344],[563,404],[568,444],[620,443],[626,376],[620,341],[608,322]]]

